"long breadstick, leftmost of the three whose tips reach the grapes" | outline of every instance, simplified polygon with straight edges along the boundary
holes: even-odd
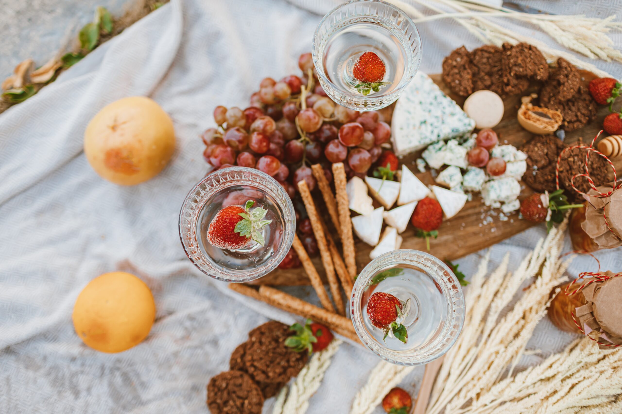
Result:
[[[337,275],[335,274],[335,265],[333,264],[330,250],[328,250],[328,244],[326,242],[326,236],[324,235],[324,229],[322,228],[320,217],[317,214],[317,209],[315,209],[315,203],[313,202],[313,198],[311,197],[311,192],[309,191],[309,186],[307,186],[307,181],[300,180],[298,182],[298,191],[300,191],[302,202],[304,202],[305,209],[307,209],[307,214],[309,215],[311,227],[313,228],[313,234],[315,235],[315,240],[317,240],[317,246],[320,249],[322,264],[324,265],[324,269],[326,271],[326,278],[328,279],[330,293],[333,295],[333,301],[335,301],[335,307],[337,307],[337,311],[341,315],[345,315],[346,308],[343,305],[343,297],[341,297],[339,281],[337,280]]]

